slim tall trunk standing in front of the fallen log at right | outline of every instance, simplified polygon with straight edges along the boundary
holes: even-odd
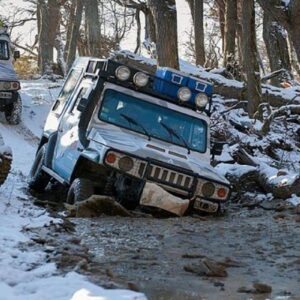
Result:
[[[243,70],[247,82],[247,109],[249,115],[252,117],[261,102],[254,0],[242,0],[242,17]]]

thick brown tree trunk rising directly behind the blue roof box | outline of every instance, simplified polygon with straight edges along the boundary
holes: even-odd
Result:
[[[175,0],[148,0],[156,28],[159,66],[179,69]]]

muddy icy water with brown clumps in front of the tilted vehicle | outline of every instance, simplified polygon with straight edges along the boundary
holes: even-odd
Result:
[[[299,229],[297,210],[272,201],[218,217],[71,218],[33,239],[62,272],[148,299],[300,299]]]

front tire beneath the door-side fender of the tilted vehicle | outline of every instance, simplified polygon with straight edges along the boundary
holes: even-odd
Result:
[[[86,178],[76,178],[68,191],[67,203],[74,204],[88,199],[95,192],[93,183]]]

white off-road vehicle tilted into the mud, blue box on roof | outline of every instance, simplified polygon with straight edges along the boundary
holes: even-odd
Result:
[[[48,115],[30,188],[55,179],[69,203],[108,194],[133,209],[150,182],[217,212],[230,184],[210,165],[211,95],[210,83],[176,70],[79,58]]]

